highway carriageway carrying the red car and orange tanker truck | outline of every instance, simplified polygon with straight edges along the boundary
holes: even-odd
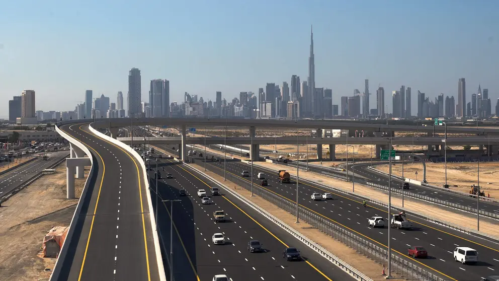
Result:
[[[199,159],[199,158],[198,158]],[[204,161],[202,159],[199,159]],[[203,165],[203,164],[201,164]],[[211,165],[211,170],[223,176],[223,160],[221,164],[215,164],[211,161],[207,162]],[[236,160],[227,160],[227,173],[239,176],[243,170],[249,171],[250,166]],[[291,168],[291,167],[290,167]],[[293,168],[289,169],[294,171]],[[280,184],[277,182],[277,172],[269,174],[257,166],[253,168],[254,182],[260,182],[256,178],[259,172],[265,172],[270,186],[265,187],[269,191],[281,195],[287,200],[294,201],[296,198],[296,184]],[[249,180],[246,178],[246,180]],[[362,202],[355,197],[345,195],[343,193],[335,193],[331,190],[325,190],[321,187],[300,183],[299,185],[300,204],[321,216],[331,220],[332,222],[356,232],[358,235],[372,240],[379,245],[387,245],[387,227],[383,229],[372,229],[368,226],[368,219],[372,216],[383,216],[385,222],[388,222],[387,210],[385,207],[368,203],[367,208],[362,207]],[[331,192],[334,194],[333,200],[312,201],[310,195],[312,192]],[[480,280],[499,270],[499,245],[488,241],[483,241],[472,236],[440,227],[435,224],[413,218],[414,228],[412,230],[396,230],[392,234],[392,249],[400,255],[407,254],[409,246],[423,246],[428,250],[431,256],[428,259],[413,259],[405,256],[414,263],[420,264],[427,270],[434,270],[447,278],[453,280]],[[386,223],[385,223],[386,224]],[[459,246],[471,247],[478,251],[479,262],[475,265],[462,265],[453,260],[452,251]]]

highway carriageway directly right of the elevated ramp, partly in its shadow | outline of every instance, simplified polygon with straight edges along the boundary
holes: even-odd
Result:
[[[156,152],[158,153],[158,152]],[[155,162],[151,162],[155,168]],[[212,280],[215,274],[227,274],[231,280],[354,280],[340,268],[319,256],[290,234],[240,203],[230,194],[211,196],[213,204],[201,204],[198,189],[217,186],[203,176],[187,170],[182,164],[170,159],[159,159],[158,168],[162,179],[158,179],[160,199],[180,199],[174,202],[174,277],[175,280]],[[155,188],[154,171],[151,187]],[[173,174],[167,179],[166,174]],[[180,196],[185,189],[188,196]],[[155,194],[152,190],[151,194]],[[153,202],[155,199],[153,199]],[[161,201],[159,201],[161,204]],[[170,252],[170,202],[163,202],[158,209],[159,228],[163,252]],[[213,212],[224,210],[228,219],[215,224]],[[214,233],[222,233],[224,245],[213,245]],[[249,253],[249,240],[259,240],[263,253]],[[289,262],[283,259],[286,246],[297,247],[304,260]],[[165,262],[167,267],[169,263]]]

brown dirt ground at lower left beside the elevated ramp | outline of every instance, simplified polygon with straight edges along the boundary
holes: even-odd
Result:
[[[75,179],[75,194],[81,194],[84,179]],[[66,199],[66,169],[44,175],[13,195],[0,208],[0,280],[38,280],[49,277],[55,258],[40,258],[44,235],[52,226],[69,226],[78,199]]]

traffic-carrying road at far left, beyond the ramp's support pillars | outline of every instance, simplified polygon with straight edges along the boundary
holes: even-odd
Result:
[[[28,164],[24,164],[10,172],[0,176],[0,197],[9,194],[12,190],[18,188],[23,183],[28,181],[36,174],[42,172],[44,169],[52,166],[56,162],[69,156],[68,151],[60,151],[54,153],[47,153],[48,160],[43,160],[42,157],[33,160]]]

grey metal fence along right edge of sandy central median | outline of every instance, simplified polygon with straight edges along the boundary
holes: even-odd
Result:
[[[194,160],[193,163],[199,160]],[[187,165],[187,164],[186,164]],[[212,168],[211,165],[206,165],[206,169],[217,172],[216,168]],[[275,171],[272,171],[275,173]],[[294,176],[292,176],[293,178]],[[239,186],[251,190],[251,182],[232,174],[226,174],[226,178]],[[296,177],[294,177],[296,180]],[[300,180],[301,181],[301,180]],[[216,181],[215,181],[216,182]],[[229,189],[230,190],[230,189]],[[286,210],[291,214],[296,213],[296,203],[284,199],[283,197],[272,193],[261,186],[254,183],[253,192],[256,195],[261,196],[267,201],[277,205],[278,207]],[[245,199],[244,199],[245,200]],[[350,231],[335,225],[329,220],[324,219],[317,214],[310,212],[308,209],[299,206],[299,217],[306,221],[308,224],[317,228],[321,232],[337,239],[338,241],[344,243],[345,245],[355,249],[356,251],[368,256],[379,264],[385,264],[388,258],[388,251],[384,247],[380,247],[375,243],[371,243]],[[317,244],[312,241],[312,245],[317,247]],[[410,278],[411,280],[425,280],[425,281],[444,281],[443,278],[426,271],[425,269],[415,265],[398,255],[392,254],[392,270],[404,278]]]

